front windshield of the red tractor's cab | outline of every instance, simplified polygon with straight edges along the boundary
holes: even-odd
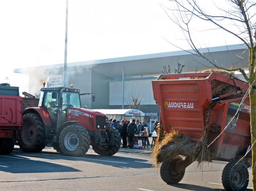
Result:
[[[62,109],[66,109],[68,107],[81,108],[79,93],[63,92],[62,98]]]

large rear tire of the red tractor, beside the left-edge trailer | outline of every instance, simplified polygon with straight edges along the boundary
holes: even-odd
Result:
[[[44,123],[39,115],[27,113],[23,115],[23,125],[17,131],[17,142],[25,152],[40,152],[45,148]]]

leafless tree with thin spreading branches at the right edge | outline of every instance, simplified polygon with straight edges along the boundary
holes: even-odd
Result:
[[[204,58],[210,65],[211,68],[223,69],[226,71],[239,71],[242,73],[246,81],[249,83],[249,98],[251,106],[251,137],[252,146],[256,141],[256,3],[250,0],[223,0],[215,1],[215,8],[218,13],[214,12],[214,9],[206,10],[203,7],[203,2],[198,3],[196,0],[169,0],[172,2],[172,8],[167,8],[161,4],[163,10],[167,13],[169,18],[178,25],[185,37],[185,40],[190,45],[193,51],[187,51],[182,49],[179,45],[174,45],[188,53],[191,53],[197,57]],[[225,4],[226,7],[221,8]],[[170,14],[168,14],[170,11]],[[212,11],[212,12],[211,12]],[[230,35],[235,36],[239,39],[248,50],[248,55],[242,57],[241,60],[248,61],[246,69],[249,74],[246,75],[244,68],[237,67],[236,63],[232,63],[230,68],[224,68],[221,63],[218,63],[216,59],[212,57],[210,51],[204,53],[202,48],[197,45],[196,40],[193,39],[191,33],[191,24],[193,19],[199,19],[209,22],[216,26],[215,30],[224,30]],[[212,30],[212,29],[208,29]],[[245,53],[245,52],[244,52]],[[200,63],[202,64],[202,63]],[[256,147],[252,148],[252,166],[253,166],[253,190],[256,191]]]

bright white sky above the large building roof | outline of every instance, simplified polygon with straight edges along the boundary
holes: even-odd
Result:
[[[172,7],[168,0],[69,0],[68,62],[179,50],[165,39],[189,49],[161,5]],[[2,81],[8,77],[20,86],[28,78],[13,74],[15,68],[64,62],[65,9],[65,0],[0,0]],[[202,47],[241,43],[221,30],[200,32],[215,27],[193,22],[192,35]]]

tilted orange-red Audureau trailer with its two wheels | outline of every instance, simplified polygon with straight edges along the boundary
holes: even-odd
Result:
[[[234,86],[234,92],[212,95],[211,82],[217,80]],[[198,142],[204,135],[206,120],[205,112],[210,104],[214,107],[210,112],[208,123],[208,145],[224,130],[225,131],[209,146],[213,160],[229,161],[222,173],[222,184],[226,190],[245,190],[248,185],[248,170],[251,166],[251,154],[240,159],[251,145],[250,136],[250,104],[246,98],[241,104],[237,120],[230,120],[235,115],[242,97],[229,99],[237,92],[245,93],[248,84],[222,74],[188,73],[163,74],[152,81],[153,93],[160,107],[160,123],[166,132],[171,129],[180,130],[183,134]],[[193,162],[191,156],[170,159],[162,162],[160,174],[167,183],[179,182],[185,168]]]

